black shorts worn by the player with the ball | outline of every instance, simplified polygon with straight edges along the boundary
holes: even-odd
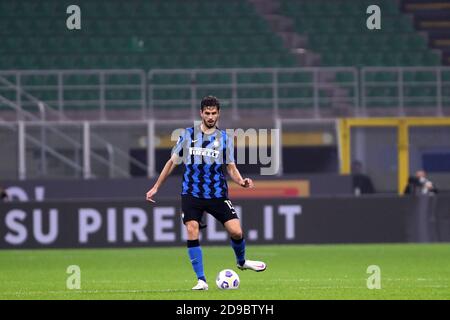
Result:
[[[211,214],[222,224],[231,219],[238,219],[233,204],[228,198],[200,199],[191,195],[182,195],[181,210],[183,211],[183,223],[196,220],[200,227],[205,227],[202,222],[204,212]]]

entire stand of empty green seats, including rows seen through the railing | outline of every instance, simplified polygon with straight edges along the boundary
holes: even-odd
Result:
[[[405,96],[402,103],[408,107],[445,106],[450,95],[445,84],[448,71],[439,75],[432,69],[416,70],[400,75],[392,70],[369,70],[362,73],[362,79],[358,77],[364,67],[439,66],[440,51],[429,48],[428,34],[414,28],[440,26],[440,35],[445,35],[441,29],[448,32],[444,21],[448,6],[436,3],[377,1],[382,29],[369,31],[366,9],[372,1],[368,0],[130,0],[126,5],[118,0],[80,0],[82,28],[71,31],[66,28],[69,1],[0,0],[0,36],[4,39],[0,70],[54,70],[22,73],[20,81],[14,74],[3,74],[0,94],[27,108],[27,102],[18,98],[20,87],[58,110],[136,110],[137,117],[144,118],[146,113],[141,110],[147,104],[179,112],[190,109],[191,101],[211,91],[225,104],[239,101],[242,109],[273,108],[277,101],[280,110],[306,110],[314,117],[320,115],[318,109],[333,110],[328,113],[331,116],[353,115],[359,105],[397,110],[400,95]],[[267,4],[271,10],[266,14],[258,10]],[[401,9],[416,17],[433,11],[438,20],[430,25],[419,19],[414,24],[412,15]],[[289,46],[271,23],[275,16],[285,25],[292,22],[290,32],[306,39],[303,48]],[[448,46],[447,38],[429,34],[431,45],[439,44],[439,49]],[[298,49],[319,59],[303,61]],[[448,60],[445,57],[444,62]],[[155,69],[304,66],[358,69],[291,70],[278,74],[276,80],[270,71],[240,73],[235,78],[227,71],[195,76],[183,72],[152,74],[149,79],[145,75]],[[92,69],[133,71],[79,71]],[[57,70],[66,71],[61,75]],[[400,77],[405,85],[401,93]],[[358,83],[360,80],[364,83]],[[437,101],[438,80],[443,83],[439,89],[442,102]],[[145,84],[151,86],[149,97]],[[36,108],[34,102],[31,107]]]

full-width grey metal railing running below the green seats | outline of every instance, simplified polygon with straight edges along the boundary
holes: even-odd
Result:
[[[52,120],[195,118],[208,94],[234,120],[253,110],[317,119],[442,116],[450,109],[450,67],[40,70],[0,77],[9,82],[0,83],[0,95],[31,112],[39,111],[27,95],[45,101]]]

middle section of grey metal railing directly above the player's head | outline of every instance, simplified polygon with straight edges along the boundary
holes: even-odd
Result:
[[[320,118],[333,107],[356,114],[359,105],[355,68],[155,69],[148,79],[154,118],[168,108],[190,110],[195,117],[199,99],[208,94],[219,97],[234,120],[246,109],[271,111],[273,117],[302,109]]]

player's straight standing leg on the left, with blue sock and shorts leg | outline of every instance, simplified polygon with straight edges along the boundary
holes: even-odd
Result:
[[[203,211],[196,203],[196,200],[192,198],[193,197],[182,197],[183,223],[186,226],[187,231],[188,255],[198,279],[197,285],[192,289],[208,290],[205,272],[203,270],[203,253],[199,241],[199,221],[201,221]]]

